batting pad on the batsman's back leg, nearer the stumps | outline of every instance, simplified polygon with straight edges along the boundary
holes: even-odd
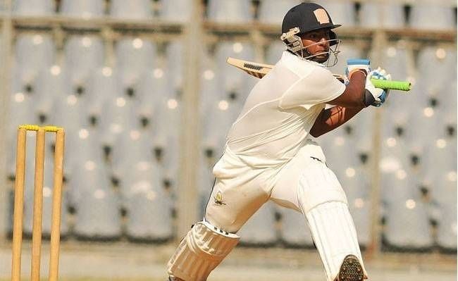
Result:
[[[206,221],[196,223],[168,261],[168,274],[186,281],[204,281],[239,240],[239,236]]]

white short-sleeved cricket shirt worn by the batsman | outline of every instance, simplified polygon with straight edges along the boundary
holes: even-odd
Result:
[[[311,156],[324,159],[309,131],[326,102],[344,91],[345,85],[323,65],[284,51],[247,97],[213,173],[228,178],[247,168],[275,170],[307,149],[306,144],[313,144]]]

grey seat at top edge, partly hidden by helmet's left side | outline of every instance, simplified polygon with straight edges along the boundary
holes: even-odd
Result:
[[[258,11],[259,21],[281,25],[287,11],[300,2],[299,0],[261,0]]]

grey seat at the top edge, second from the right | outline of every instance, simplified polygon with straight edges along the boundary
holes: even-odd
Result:
[[[359,11],[361,27],[401,28],[405,25],[401,3],[364,2]]]

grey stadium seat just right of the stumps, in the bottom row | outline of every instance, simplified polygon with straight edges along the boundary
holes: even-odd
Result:
[[[93,129],[79,130],[78,142],[66,163],[71,171],[68,192],[75,208],[74,233],[81,239],[116,239],[121,235],[120,200],[111,187],[99,138]]]

